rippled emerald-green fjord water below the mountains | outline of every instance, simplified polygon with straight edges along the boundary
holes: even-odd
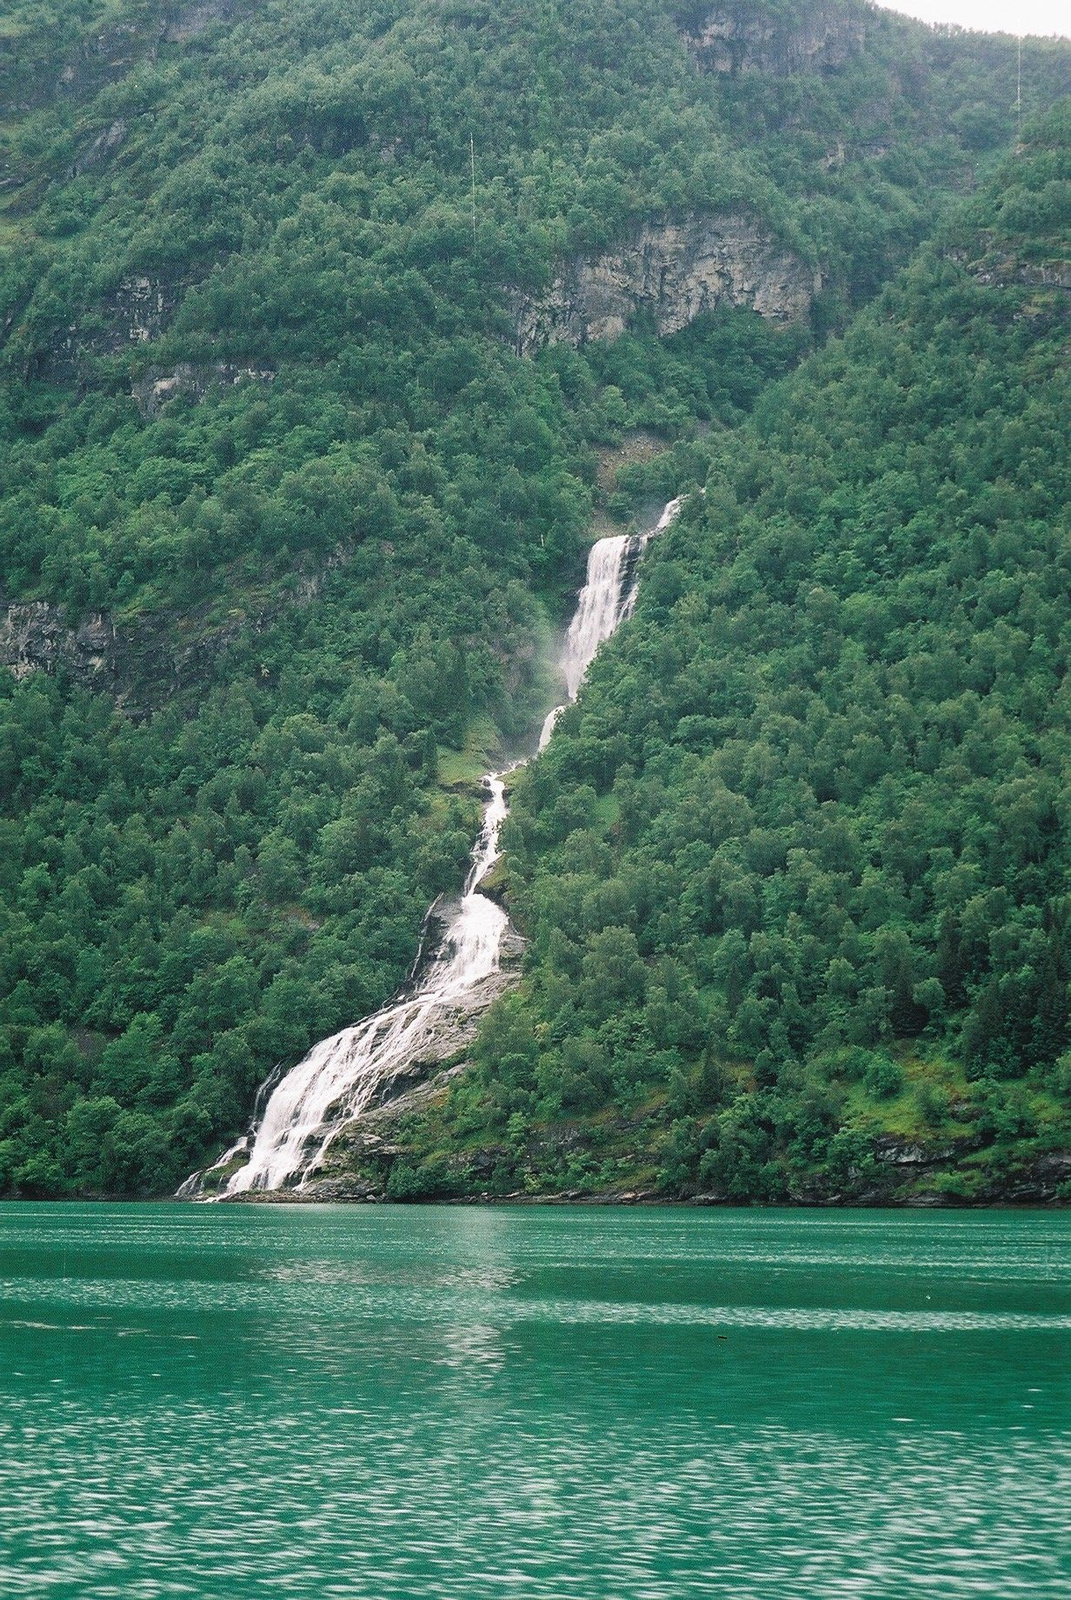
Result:
[[[0,1206],[0,1592],[1071,1584],[1071,1218]]]

